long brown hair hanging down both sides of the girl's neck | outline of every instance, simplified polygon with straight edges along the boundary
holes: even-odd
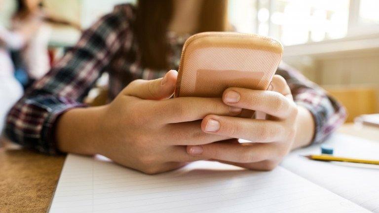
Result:
[[[166,36],[173,9],[173,0],[138,0],[135,31],[143,67],[169,69]],[[227,0],[203,0],[198,32],[225,31],[226,10]]]

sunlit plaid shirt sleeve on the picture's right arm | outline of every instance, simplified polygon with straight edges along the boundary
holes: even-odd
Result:
[[[276,74],[286,79],[297,105],[307,108],[313,115],[315,133],[312,142],[324,142],[343,124],[345,108],[320,86],[285,64],[281,64]]]

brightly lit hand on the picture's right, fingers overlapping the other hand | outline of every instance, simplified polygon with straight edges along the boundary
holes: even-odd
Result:
[[[271,91],[234,87],[225,90],[225,104],[264,112],[267,114],[266,119],[207,115],[201,123],[204,132],[234,139],[188,145],[187,152],[248,169],[275,168],[292,149],[298,106],[285,79],[280,75],[274,75],[269,90]],[[237,139],[250,142],[240,143]]]

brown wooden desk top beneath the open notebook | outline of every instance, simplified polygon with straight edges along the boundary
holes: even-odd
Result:
[[[379,141],[379,128],[345,124],[339,132]],[[0,148],[0,212],[46,212],[65,156]]]

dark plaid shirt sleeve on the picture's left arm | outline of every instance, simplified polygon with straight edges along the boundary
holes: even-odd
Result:
[[[59,115],[83,107],[84,96],[125,41],[129,22],[111,13],[86,30],[74,49],[38,80],[9,111],[5,133],[24,147],[59,153],[54,124]]]

